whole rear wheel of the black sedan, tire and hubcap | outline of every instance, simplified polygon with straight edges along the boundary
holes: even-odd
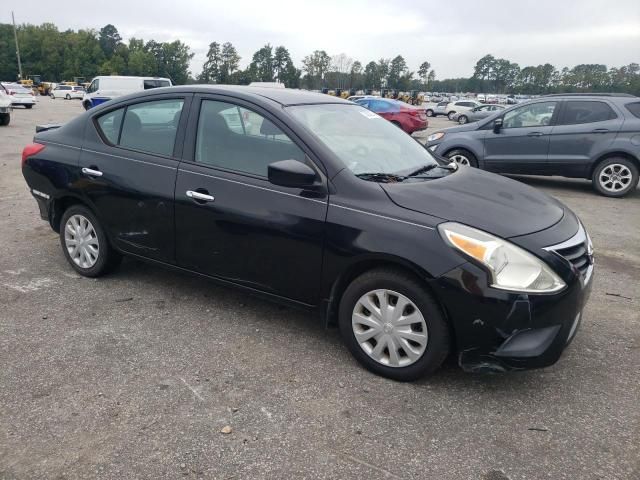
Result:
[[[96,216],[83,205],[73,205],[62,215],[60,243],[69,264],[85,277],[103,275],[121,260]]]

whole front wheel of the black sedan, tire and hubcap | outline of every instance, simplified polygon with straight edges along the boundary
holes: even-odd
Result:
[[[437,370],[449,353],[449,329],[415,278],[392,269],[356,278],[340,301],[342,338],[368,370],[411,381]]]

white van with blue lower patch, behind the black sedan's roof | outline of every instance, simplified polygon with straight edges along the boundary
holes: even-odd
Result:
[[[85,110],[89,110],[91,107],[112,98],[151,88],[170,87],[171,85],[171,80],[161,77],[120,77],[115,75],[95,77],[82,99],[82,106]]]

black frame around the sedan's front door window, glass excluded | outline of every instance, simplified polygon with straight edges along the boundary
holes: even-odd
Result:
[[[322,164],[322,162],[318,159],[318,157],[313,153],[311,148],[307,146],[306,143],[291,129],[286,123],[281,121],[279,118],[271,114],[268,110],[265,110],[260,105],[254,104],[248,100],[237,98],[231,95],[224,95],[219,93],[200,93],[195,94],[192,106],[190,108],[188,121],[186,122],[186,128],[184,128],[184,149],[182,151],[181,162],[189,163],[192,165],[197,165],[201,168],[208,168],[213,170],[219,170],[221,172],[227,172],[233,175],[239,175],[247,178],[253,178],[261,181],[268,180],[264,176],[254,175],[248,172],[242,172],[238,170],[228,170],[223,167],[215,166],[215,165],[207,165],[202,162],[195,161],[196,155],[196,138],[198,131],[198,123],[200,118],[200,110],[202,109],[202,104],[205,100],[213,100],[218,102],[225,102],[231,105],[235,105],[237,107],[245,108],[247,110],[251,110],[265,119],[269,120],[273,123],[277,128],[279,128],[290,140],[293,144],[298,147],[305,155],[305,159],[311,163],[311,167],[318,172],[318,174],[322,177],[322,181],[326,183],[326,167]]]

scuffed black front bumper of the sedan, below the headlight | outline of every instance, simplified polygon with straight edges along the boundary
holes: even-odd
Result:
[[[544,254],[542,254],[544,255]],[[453,324],[458,363],[465,371],[501,372],[554,364],[575,337],[593,285],[593,262],[582,273],[550,253],[567,284],[556,294],[527,294],[489,286],[487,273],[465,263],[433,280]]]

